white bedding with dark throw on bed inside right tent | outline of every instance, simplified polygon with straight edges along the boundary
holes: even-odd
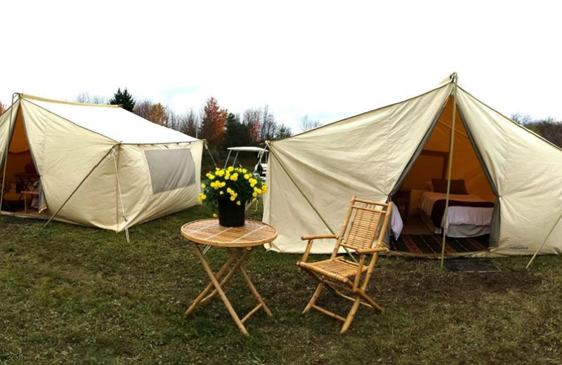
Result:
[[[433,204],[445,199],[447,194],[440,192],[422,192],[419,197],[419,208],[431,217]],[[449,200],[457,201],[486,201],[481,197],[472,194],[450,194]],[[480,206],[450,206],[447,218],[447,229],[449,225],[490,225],[492,223],[492,213],[494,208]],[[445,217],[443,217],[445,220]],[[441,222],[443,227],[443,222]]]

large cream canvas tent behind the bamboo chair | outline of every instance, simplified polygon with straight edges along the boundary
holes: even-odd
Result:
[[[495,200],[481,255],[529,255],[543,244],[540,253],[560,253],[562,151],[464,91],[455,75],[409,100],[268,142],[263,221],[279,232],[273,250],[299,253],[301,235],[339,233],[353,195],[387,201],[403,183],[421,183],[416,171],[431,168],[421,152],[449,150],[454,104],[452,178]]]

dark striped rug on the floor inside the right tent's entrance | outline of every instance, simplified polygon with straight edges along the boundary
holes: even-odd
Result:
[[[485,251],[488,248],[489,234],[478,237],[455,238],[447,237],[445,256],[458,256],[471,252]],[[439,257],[443,236],[440,234],[402,234],[393,240],[391,250],[395,254],[404,253],[423,257]]]

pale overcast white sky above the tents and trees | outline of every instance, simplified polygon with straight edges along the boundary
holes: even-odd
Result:
[[[556,1],[84,4],[3,2],[2,102],[13,92],[75,100],[126,87],[178,112],[210,96],[231,112],[268,104],[298,131],[305,114],[335,121],[456,71],[499,112],[562,119]]]

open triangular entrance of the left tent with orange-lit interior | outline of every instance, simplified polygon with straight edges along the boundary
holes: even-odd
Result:
[[[46,206],[43,204],[44,199],[39,199],[40,177],[27,143],[20,108],[9,146],[1,211],[38,216]]]

